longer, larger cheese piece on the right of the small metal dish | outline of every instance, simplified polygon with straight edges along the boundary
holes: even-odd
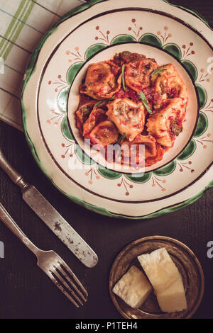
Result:
[[[143,270],[151,281],[163,312],[187,309],[182,277],[165,248],[138,256]]]

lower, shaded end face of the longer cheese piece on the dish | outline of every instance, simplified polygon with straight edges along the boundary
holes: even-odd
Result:
[[[162,293],[158,293],[157,298],[160,309],[163,312],[178,312],[187,309],[187,300],[181,275],[170,287]]]

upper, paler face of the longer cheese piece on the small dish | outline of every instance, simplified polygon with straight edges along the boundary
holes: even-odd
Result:
[[[162,293],[178,279],[179,271],[164,247],[150,254],[138,256],[138,261],[151,281],[155,293]]]

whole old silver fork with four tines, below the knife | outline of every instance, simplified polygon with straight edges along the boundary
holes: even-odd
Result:
[[[23,231],[16,225],[3,205],[0,203],[0,219],[9,227],[11,232],[16,235],[21,242],[30,249],[37,257],[37,265],[42,269],[55,285],[64,293],[67,298],[76,306],[84,305],[87,302],[87,290],[82,286],[79,279],[72,272],[58,254],[54,251],[43,251],[35,247],[35,245],[24,235]]]

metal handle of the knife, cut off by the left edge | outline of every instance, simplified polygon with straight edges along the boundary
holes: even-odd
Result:
[[[21,191],[24,191],[28,187],[28,183],[23,179],[23,176],[16,171],[16,169],[9,163],[9,161],[4,156],[3,152],[0,149],[0,166],[6,174],[10,177],[11,181],[18,185],[21,188]]]

